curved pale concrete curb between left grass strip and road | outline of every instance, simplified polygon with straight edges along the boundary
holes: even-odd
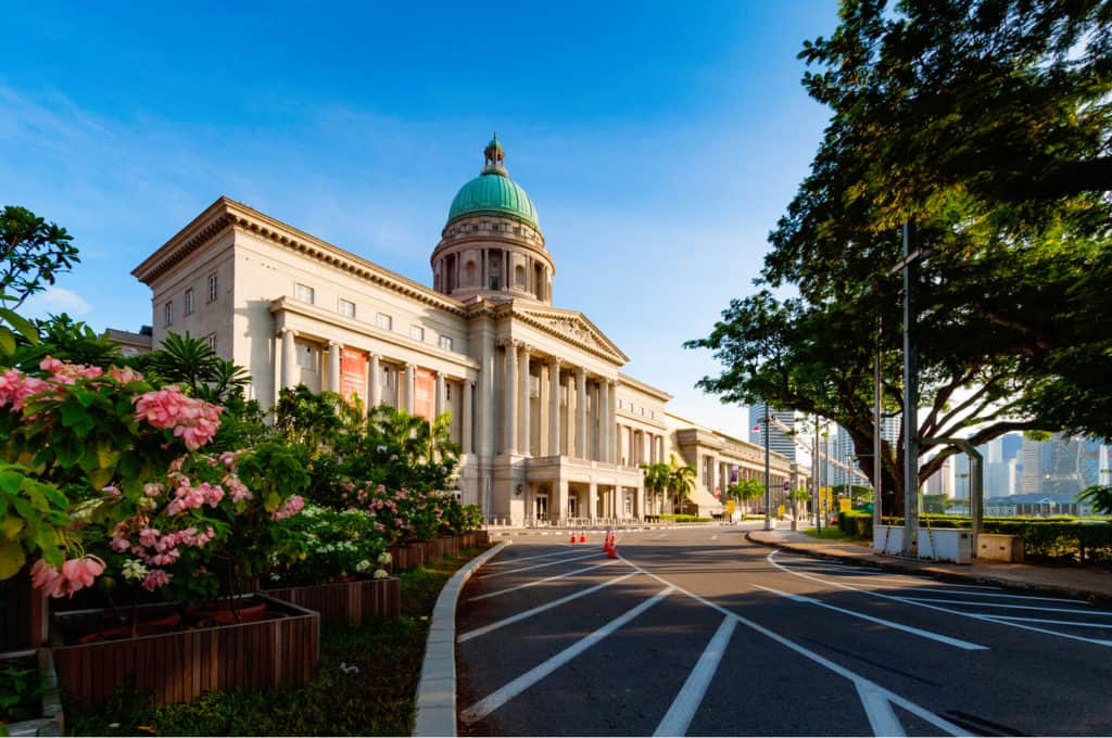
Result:
[[[436,598],[417,684],[417,719],[413,732],[417,738],[456,735],[456,601],[471,575],[512,542],[499,541],[468,561]]]

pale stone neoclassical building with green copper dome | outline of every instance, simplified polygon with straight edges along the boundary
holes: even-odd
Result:
[[[693,500],[718,511],[759,447],[668,413],[671,396],[622,372],[628,357],[586,316],[553,306],[556,262],[497,139],[433,249],[433,286],[394,273],[252,208],[219,198],[132,273],[168,331],[205,336],[246,367],[249,397],[282,387],[360,396],[434,418],[450,412],[459,490],[514,523],[636,519],[661,511],[641,463],[698,470]],[[803,483],[773,455],[772,480]]]

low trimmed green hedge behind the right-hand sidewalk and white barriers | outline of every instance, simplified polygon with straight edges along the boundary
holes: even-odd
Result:
[[[920,518],[932,528],[969,528],[964,516],[929,515]],[[902,526],[903,518],[883,520],[886,526]],[[848,536],[872,539],[873,516],[867,512],[842,512],[838,528]],[[1023,537],[1023,554],[1042,561],[1079,561],[1112,564],[1112,525],[1079,522],[1075,518],[985,518],[982,530]]]

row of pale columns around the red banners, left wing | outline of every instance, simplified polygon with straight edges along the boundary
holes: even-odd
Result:
[[[279,356],[281,357],[281,387],[289,388],[296,387],[300,377],[297,368],[297,331],[291,328],[282,328],[280,331],[281,349]],[[328,367],[327,377],[328,386],[327,389],[330,391],[340,390],[340,358],[344,353],[345,345],[340,341],[329,341],[328,342]],[[384,359],[387,363],[398,368],[399,387],[397,392],[396,407],[398,409],[405,410],[406,412],[413,413],[416,409],[416,371],[418,367],[410,361],[403,359],[391,360],[389,357],[385,357],[377,351],[370,349],[365,349],[357,346],[349,346],[360,353],[367,356],[367,377],[366,387],[363,388],[364,396],[367,398],[367,407],[378,407],[383,403],[383,362]],[[434,383],[434,398],[433,407],[435,416],[448,410],[447,401],[447,389],[448,382],[459,387],[461,412],[459,417],[459,446],[464,453],[470,453],[473,449],[473,435],[471,435],[471,418],[474,415],[474,387],[475,382],[467,379],[466,377],[456,377],[447,375],[444,371],[436,369],[428,369],[433,373]]]

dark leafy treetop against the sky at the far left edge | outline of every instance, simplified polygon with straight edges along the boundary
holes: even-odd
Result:
[[[18,308],[78,263],[73,237],[27,208],[0,210],[0,296]]]

